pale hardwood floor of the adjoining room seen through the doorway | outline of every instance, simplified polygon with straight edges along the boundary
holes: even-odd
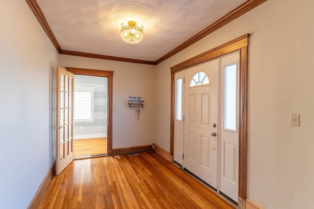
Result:
[[[107,139],[76,139],[74,140],[74,157],[107,154]]]

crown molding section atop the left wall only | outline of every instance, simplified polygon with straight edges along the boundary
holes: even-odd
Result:
[[[44,31],[46,32],[48,38],[50,39],[50,41],[52,42],[53,46],[55,47],[55,49],[57,50],[58,53],[60,53],[61,51],[61,47],[57,41],[57,39],[55,38],[55,36],[52,33],[52,30],[43,14],[43,12],[41,11],[38,3],[36,0],[26,0],[29,8],[31,9],[31,11],[34,13],[35,17],[37,18],[38,22],[40,23],[40,25],[43,27]]]

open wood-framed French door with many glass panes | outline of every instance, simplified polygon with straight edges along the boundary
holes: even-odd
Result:
[[[57,68],[57,134],[55,174],[70,164],[74,159],[74,74]]]

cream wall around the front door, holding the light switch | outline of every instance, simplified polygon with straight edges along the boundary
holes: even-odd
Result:
[[[314,208],[314,0],[268,0],[157,66],[157,144],[170,149],[170,67],[251,33],[248,198]],[[289,114],[301,126],[289,126]]]

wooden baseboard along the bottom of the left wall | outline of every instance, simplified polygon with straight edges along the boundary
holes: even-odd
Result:
[[[55,174],[55,162],[53,163],[53,165],[51,166],[51,168],[49,169],[49,171],[47,172],[44,180],[42,181],[42,183],[40,184],[38,190],[36,191],[33,199],[30,201],[27,209],[37,209],[41,198],[43,197],[51,179],[52,176]]]

